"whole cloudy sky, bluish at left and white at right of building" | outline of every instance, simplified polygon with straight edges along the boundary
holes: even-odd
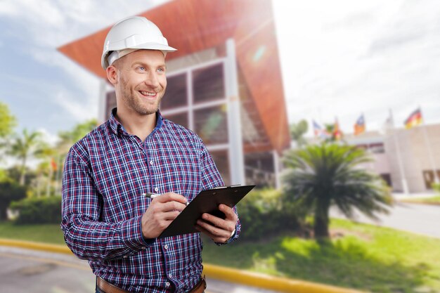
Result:
[[[0,0],[0,101],[18,130],[59,131],[98,116],[97,77],[56,48],[163,0]],[[419,106],[440,123],[440,1],[273,0],[290,123],[380,130]],[[167,37],[167,36],[165,36]],[[312,129],[309,129],[309,136]]]

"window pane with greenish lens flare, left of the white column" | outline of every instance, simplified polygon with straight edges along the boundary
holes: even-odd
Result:
[[[195,110],[195,132],[207,145],[228,143],[226,117],[226,105]]]

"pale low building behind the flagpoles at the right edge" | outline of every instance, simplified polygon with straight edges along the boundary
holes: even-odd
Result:
[[[364,167],[380,174],[394,191],[432,190],[434,174],[440,181],[440,124],[369,131],[344,140],[370,152],[373,162]]]

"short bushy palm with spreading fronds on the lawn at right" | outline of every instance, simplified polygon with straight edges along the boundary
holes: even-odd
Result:
[[[316,238],[328,237],[329,209],[336,206],[349,219],[355,208],[370,218],[387,212],[389,188],[377,174],[360,164],[371,158],[359,148],[336,143],[308,145],[285,156],[285,201],[307,214],[313,212]]]

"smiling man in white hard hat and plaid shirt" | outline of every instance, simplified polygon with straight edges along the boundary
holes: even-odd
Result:
[[[200,138],[158,111],[167,87],[168,46],[146,18],[117,22],[102,65],[117,108],[75,143],[65,160],[61,228],[97,276],[96,292],[203,292],[200,233],[157,239],[201,190],[223,185]],[[145,193],[159,193],[153,200]],[[235,240],[240,222],[224,204],[197,229],[217,244]]]

